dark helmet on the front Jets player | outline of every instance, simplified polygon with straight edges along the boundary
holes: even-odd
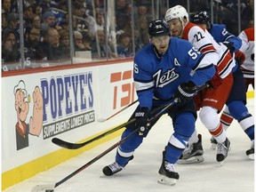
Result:
[[[170,28],[165,20],[152,20],[148,25],[148,33],[153,36],[169,36]]]

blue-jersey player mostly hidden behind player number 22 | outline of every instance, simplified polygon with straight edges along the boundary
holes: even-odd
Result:
[[[241,39],[229,33],[225,25],[211,23],[211,19],[207,15],[207,12],[196,12],[196,14],[192,15],[191,22],[200,25],[203,28],[206,28],[211,33],[214,40],[218,43],[225,44],[232,54],[235,54],[235,52],[239,52],[239,48],[242,45]],[[223,127],[227,130],[228,124],[225,122],[227,116],[233,116],[237,120],[237,122],[241,125],[244,132],[247,134],[248,138],[252,141],[252,147],[246,151],[246,155],[249,156],[249,158],[254,159],[254,120],[252,114],[248,112],[248,108],[246,108],[245,106],[246,88],[244,84],[244,76],[241,68],[239,68],[238,63],[240,63],[239,58],[238,60],[236,60],[236,67],[232,70],[234,78],[233,85],[231,92],[229,93],[228,96],[228,100],[226,103],[227,106],[220,117],[220,122],[223,125]],[[194,132],[193,136],[189,140],[189,143],[193,143],[193,146],[198,145],[198,140],[196,140],[196,138],[197,132]],[[217,141],[213,137],[211,139],[211,142],[212,149],[216,148]],[[194,163],[190,159],[192,159],[193,156],[195,156],[196,154],[198,155],[198,153],[196,152],[197,147],[195,147],[195,150],[193,150],[193,146],[190,147],[190,150],[185,150],[183,152],[183,156],[187,156],[186,161],[188,163]],[[183,163],[185,163],[184,159]]]

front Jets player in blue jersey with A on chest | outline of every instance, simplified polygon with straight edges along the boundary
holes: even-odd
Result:
[[[133,65],[133,79],[140,105],[130,119],[135,117],[136,122],[126,126],[122,139],[134,129],[140,129],[138,134],[132,135],[117,148],[116,162],[105,166],[102,171],[107,176],[122,171],[160,118],[148,124],[148,119],[154,116],[152,110],[177,98],[180,101],[166,112],[172,118],[170,122],[174,132],[164,149],[163,162],[158,171],[162,177],[158,182],[174,185],[180,177],[174,171],[174,164],[195,130],[196,107],[193,96],[196,87],[209,81],[215,68],[211,58],[197,52],[188,41],[171,38],[166,21],[151,21],[148,33],[150,43],[137,52]]]

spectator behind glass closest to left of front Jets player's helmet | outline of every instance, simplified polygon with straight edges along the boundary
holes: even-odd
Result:
[[[120,58],[132,57],[132,43],[131,36],[128,33],[123,33],[118,37],[117,54]]]

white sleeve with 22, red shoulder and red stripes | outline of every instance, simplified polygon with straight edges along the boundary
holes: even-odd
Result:
[[[224,44],[218,44],[205,28],[188,22],[183,31],[183,39],[188,40],[199,52],[203,52],[210,62],[218,66],[221,78],[232,72],[236,61],[228,48]]]

